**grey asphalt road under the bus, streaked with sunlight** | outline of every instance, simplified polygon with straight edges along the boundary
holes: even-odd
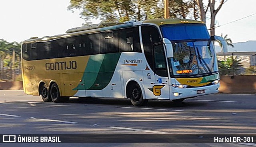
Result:
[[[0,90],[0,134],[256,134],[256,95],[212,94],[179,104],[151,100],[146,107],[135,107],[130,100],[112,98],[45,103],[40,96],[20,90]],[[246,147],[256,143],[2,143],[0,147],[31,145]]]

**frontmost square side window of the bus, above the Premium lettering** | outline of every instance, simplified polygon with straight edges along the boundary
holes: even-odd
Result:
[[[119,48],[120,52],[142,52],[138,27],[119,30]]]

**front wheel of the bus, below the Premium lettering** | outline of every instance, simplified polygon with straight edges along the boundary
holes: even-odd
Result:
[[[143,99],[140,85],[132,84],[129,91],[130,100],[134,106],[146,106],[148,100]]]

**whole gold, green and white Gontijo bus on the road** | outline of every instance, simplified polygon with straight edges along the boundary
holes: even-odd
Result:
[[[217,93],[213,40],[203,22],[185,19],[130,21],[72,28],[63,35],[22,43],[26,94],[44,102],[71,96],[183,101]]]

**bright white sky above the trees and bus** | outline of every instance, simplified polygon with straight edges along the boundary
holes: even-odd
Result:
[[[0,39],[21,42],[30,37],[64,34],[81,26],[84,20],[78,11],[67,10],[69,3],[70,0],[0,0]],[[217,26],[220,25],[216,35],[228,34],[233,43],[256,40],[256,15],[227,24],[255,14],[255,6],[256,0],[228,0],[216,16]]]

